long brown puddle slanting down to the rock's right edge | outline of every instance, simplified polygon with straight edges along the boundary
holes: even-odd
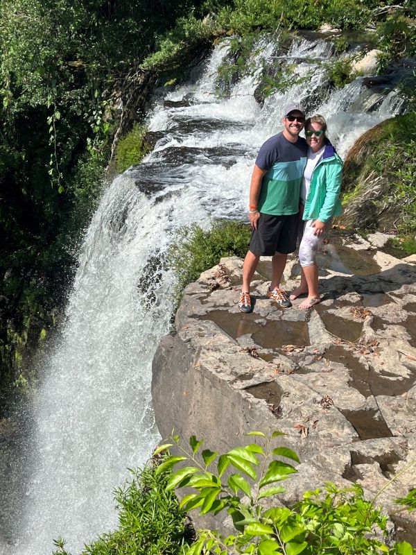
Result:
[[[374,395],[374,397],[377,395],[397,397],[409,391],[415,383],[416,377],[414,375],[402,378],[388,372],[379,374],[371,366],[367,370],[352,353],[340,346],[329,348],[324,357],[331,362],[338,362],[348,368],[351,378],[348,385],[354,387],[365,398],[370,397],[370,395]]]

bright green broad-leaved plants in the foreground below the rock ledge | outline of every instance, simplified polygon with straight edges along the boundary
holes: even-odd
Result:
[[[392,547],[383,543],[381,537],[387,536],[388,518],[374,506],[381,491],[370,502],[358,484],[338,488],[328,482],[324,490],[304,493],[292,507],[279,504],[268,505],[266,509],[260,499],[284,493],[284,488],[276,484],[297,472],[291,463],[282,460],[299,462],[295,452],[283,446],[272,448],[273,440],[284,435],[250,432],[248,436],[257,438],[257,443],[236,447],[219,456],[206,449],[200,453],[202,461],[198,456],[202,441],[193,436],[189,442],[191,450],[185,450],[178,437],[172,438],[184,456],[170,456],[164,465],[166,468],[173,468],[177,463],[186,466],[173,472],[167,488],[191,488],[180,506],[187,511],[198,509],[201,515],[227,510],[236,529],[236,533],[226,538],[216,531],[199,531],[198,540],[189,547],[187,555],[416,553],[406,542]],[[171,445],[159,447],[158,451]],[[415,509],[414,492],[399,502],[404,502],[409,510]]]

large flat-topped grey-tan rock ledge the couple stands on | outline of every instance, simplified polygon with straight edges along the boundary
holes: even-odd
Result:
[[[187,287],[176,332],[153,361],[162,436],[175,428],[225,452],[253,429],[285,432],[301,459],[285,482],[288,503],[327,480],[358,482],[374,496],[416,458],[416,265],[351,241],[323,246],[322,303],[312,310],[298,309],[299,300],[290,309],[270,303],[270,259],[254,276],[252,314],[236,305],[241,259],[222,259]],[[298,273],[293,258],[288,291]],[[404,473],[381,504],[392,509],[414,477],[414,468]],[[395,523],[399,538],[416,543],[412,514]]]

